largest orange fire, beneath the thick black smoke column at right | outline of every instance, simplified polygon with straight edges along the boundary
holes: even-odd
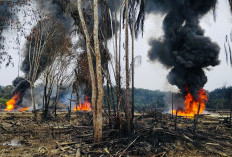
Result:
[[[208,95],[204,89],[200,89],[198,93],[198,98],[194,99],[194,97],[189,92],[188,88],[186,88],[187,95],[185,96],[185,109],[184,110],[173,110],[173,114],[178,116],[184,116],[187,118],[194,118],[195,114],[198,112],[198,108],[200,105],[199,114],[202,114],[205,110],[205,102],[208,100]]]

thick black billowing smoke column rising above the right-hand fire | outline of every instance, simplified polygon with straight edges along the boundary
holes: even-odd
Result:
[[[212,9],[216,0],[154,0],[149,13],[167,13],[164,39],[150,40],[149,58],[172,68],[168,81],[183,94],[186,87],[196,96],[207,82],[204,68],[219,64],[219,46],[204,36],[199,18]]]

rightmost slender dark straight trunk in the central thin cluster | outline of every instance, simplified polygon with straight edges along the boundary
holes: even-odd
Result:
[[[132,3],[135,3],[134,1],[132,2]],[[132,108],[131,108],[131,115],[132,115],[132,117],[131,117],[131,127],[132,127],[132,129],[134,128],[134,125],[133,125],[133,121],[134,121],[134,112],[135,112],[135,96],[134,96],[134,94],[135,94],[135,85],[134,85],[134,83],[135,83],[135,79],[134,79],[134,76],[135,76],[135,69],[134,69],[134,40],[135,40],[135,29],[134,29],[134,18],[135,18],[135,10],[134,10],[134,4],[132,5],[133,6],[133,8],[132,8],[132,32],[131,32],[131,34],[132,34],[132,93],[131,93],[131,96],[132,96]]]

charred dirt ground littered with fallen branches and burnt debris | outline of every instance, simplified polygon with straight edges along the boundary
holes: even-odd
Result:
[[[39,115],[39,114],[38,114]],[[218,114],[193,119],[148,113],[135,117],[135,131],[110,129],[104,119],[103,142],[92,142],[90,114],[59,112],[56,120],[32,121],[31,112],[0,113],[0,156],[232,156],[232,127]],[[39,117],[39,116],[38,116]]]

